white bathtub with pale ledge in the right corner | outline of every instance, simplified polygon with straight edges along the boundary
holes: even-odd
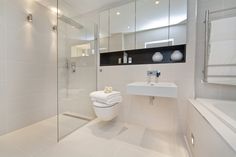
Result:
[[[236,151],[236,101],[198,98],[190,102]]]

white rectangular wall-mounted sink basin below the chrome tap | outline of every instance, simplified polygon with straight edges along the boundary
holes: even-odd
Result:
[[[174,83],[134,82],[127,85],[127,93],[131,95],[177,97],[177,86]]]

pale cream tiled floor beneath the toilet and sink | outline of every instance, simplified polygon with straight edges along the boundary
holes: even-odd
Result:
[[[56,142],[56,118],[0,137],[0,157],[188,157],[180,137],[94,120]]]

